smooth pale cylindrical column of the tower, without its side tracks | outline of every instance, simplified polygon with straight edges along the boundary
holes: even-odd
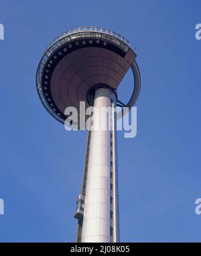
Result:
[[[94,107],[99,111],[94,112],[94,124],[95,122],[104,123],[107,125],[105,126],[107,130],[92,130],[90,134],[82,242],[111,242],[111,194],[113,194],[111,191],[111,158],[114,155],[111,153],[111,150],[113,151],[111,142],[113,137],[108,127],[109,118],[103,118],[100,115],[101,108],[111,106],[111,99],[116,101],[115,93],[111,89],[96,90]],[[111,115],[114,115],[113,111]],[[114,116],[112,120],[113,118]]]

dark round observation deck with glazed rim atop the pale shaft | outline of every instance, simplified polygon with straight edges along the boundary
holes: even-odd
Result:
[[[117,89],[131,67],[134,89],[127,104],[131,108],[140,90],[136,54],[123,36],[105,28],[85,27],[70,30],[52,42],[38,65],[36,85],[40,99],[56,120],[64,123],[67,107],[79,110],[80,101],[99,85]],[[121,102],[121,101],[119,101]]]

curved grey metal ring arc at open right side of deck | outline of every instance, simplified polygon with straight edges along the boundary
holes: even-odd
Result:
[[[140,92],[140,88],[141,88],[141,77],[140,77],[140,73],[139,73],[139,68],[138,68],[135,60],[133,61],[132,65],[131,65],[131,69],[133,71],[135,86],[133,89],[133,93],[131,95],[131,99],[127,103],[126,107],[123,108],[123,110],[121,110],[121,112],[119,112],[117,114],[117,120],[119,120],[120,118],[123,118],[123,116],[125,116],[129,112],[129,110],[131,110],[131,108],[133,107],[133,105],[135,104],[135,102],[137,101],[137,98],[139,96],[139,92]]]

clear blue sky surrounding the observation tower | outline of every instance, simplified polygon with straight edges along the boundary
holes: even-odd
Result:
[[[0,0],[0,241],[75,241],[86,132],[46,112],[35,79],[46,46],[79,26],[125,36],[141,71],[137,137],[118,134],[121,241],[201,240],[200,10],[196,0]]]

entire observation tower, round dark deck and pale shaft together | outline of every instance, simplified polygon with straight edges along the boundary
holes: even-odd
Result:
[[[125,113],[123,108],[130,109],[139,95],[135,57],[123,36],[105,28],[85,27],[56,38],[38,66],[38,94],[56,120],[66,124],[66,108],[79,111],[80,101],[98,110],[92,122],[101,128],[88,131],[82,189],[76,202],[77,242],[119,241],[116,124]],[[117,87],[130,67],[135,83],[131,99],[124,104],[118,99]],[[116,106],[122,108],[118,114]],[[109,110],[107,116],[100,114],[103,108]],[[74,124],[78,130],[83,128],[82,115],[78,112]]]

